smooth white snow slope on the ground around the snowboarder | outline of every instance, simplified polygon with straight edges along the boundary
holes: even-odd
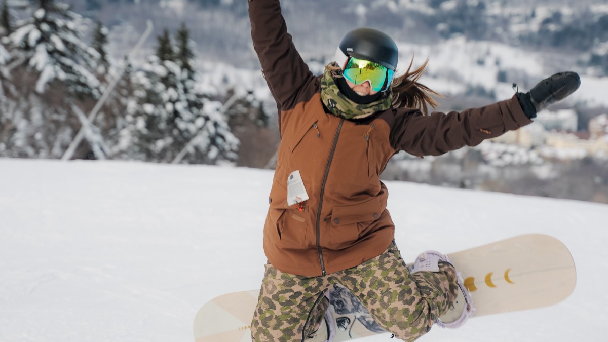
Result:
[[[40,159],[0,170],[0,341],[192,341],[202,304],[260,285],[272,171]],[[603,340],[608,206],[386,184],[406,260],[536,232],[565,242],[578,268],[558,305],[421,341]]]

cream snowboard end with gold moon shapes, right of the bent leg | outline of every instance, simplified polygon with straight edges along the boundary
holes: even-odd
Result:
[[[553,305],[576,285],[570,251],[546,235],[514,237],[449,256],[471,292],[473,316]]]

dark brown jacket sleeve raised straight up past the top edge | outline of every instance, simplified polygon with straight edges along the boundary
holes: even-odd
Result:
[[[314,78],[287,33],[279,0],[249,0],[254,49],[280,108],[293,108],[297,92]]]

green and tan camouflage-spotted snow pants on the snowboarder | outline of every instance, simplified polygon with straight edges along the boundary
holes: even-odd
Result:
[[[329,305],[324,294],[340,284],[361,301],[382,329],[414,341],[454,302],[456,277],[454,267],[443,262],[437,273],[410,274],[394,243],[374,259],[326,276],[296,276],[266,264],[251,324],[252,340],[302,341],[322,321]]]

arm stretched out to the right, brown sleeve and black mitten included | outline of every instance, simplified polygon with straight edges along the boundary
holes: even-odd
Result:
[[[529,92],[517,92],[510,100],[460,113],[398,111],[390,144],[412,155],[443,155],[465,145],[475,146],[488,138],[530,124],[536,113],[570,96],[581,85],[576,72],[565,71],[539,82]]]

